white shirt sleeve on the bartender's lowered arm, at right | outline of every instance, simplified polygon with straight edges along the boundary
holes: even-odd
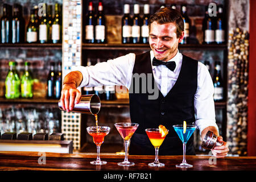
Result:
[[[197,90],[194,99],[195,125],[202,131],[208,126],[214,126],[218,130],[215,119],[215,108],[213,100],[213,81],[210,73],[203,63],[199,62],[197,71]]]

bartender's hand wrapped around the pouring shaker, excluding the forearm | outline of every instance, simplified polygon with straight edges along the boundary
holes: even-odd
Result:
[[[61,90],[60,103],[64,110],[73,110],[75,104],[79,104],[81,92],[76,89],[75,84],[64,84]]]

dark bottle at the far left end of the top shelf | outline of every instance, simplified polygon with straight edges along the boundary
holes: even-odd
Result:
[[[3,4],[3,16],[1,18],[1,43],[11,42],[11,17],[9,5]]]

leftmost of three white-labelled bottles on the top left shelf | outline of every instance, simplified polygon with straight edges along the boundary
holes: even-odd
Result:
[[[34,13],[30,14],[30,22],[28,23],[28,26],[27,26],[27,42],[28,43],[38,42],[38,27],[35,22]]]

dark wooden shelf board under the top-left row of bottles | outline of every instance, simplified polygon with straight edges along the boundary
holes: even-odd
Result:
[[[61,49],[62,44],[52,44],[52,43],[20,43],[20,44],[0,44],[0,48],[54,48],[54,49]]]

